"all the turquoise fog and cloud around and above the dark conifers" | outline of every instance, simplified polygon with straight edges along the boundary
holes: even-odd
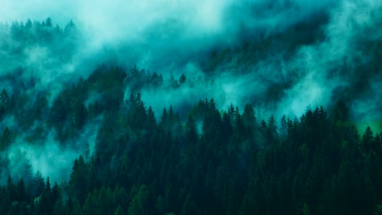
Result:
[[[86,78],[99,64],[126,70],[137,65],[163,74],[165,80],[187,77],[176,89],[140,89],[156,117],[170,105],[186,114],[204,98],[214,98],[219,110],[251,103],[264,119],[271,114],[293,118],[308,108],[330,108],[343,100],[354,122],[371,122],[381,129],[381,6],[378,0],[1,0],[0,83],[12,92],[16,83],[5,79],[6,74],[24,81],[37,77],[40,83],[30,88],[31,95],[49,89],[51,106],[63,83]],[[47,17],[63,29],[74,21],[76,42],[21,47],[21,55],[6,49],[18,45],[5,36],[14,21],[25,24],[28,18]],[[311,30],[301,30],[299,25],[306,28],[303,24]],[[311,41],[299,40],[306,37]],[[259,53],[245,50],[248,41]],[[23,71],[17,73],[20,66]],[[132,91],[127,86],[125,97]],[[87,101],[97,96],[89,95]],[[0,128],[14,127],[12,120],[3,119]],[[92,136],[90,144],[99,124],[100,120],[86,124],[86,132],[93,131],[84,133]],[[44,176],[54,175],[59,166],[64,174],[53,177],[59,180],[86,147],[57,148],[52,135],[48,133],[47,144],[40,147],[18,139],[3,156],[12,158],[19,149],[32,170]],[[76,142],[88,141],[86,136]],[[51,158],[57,156],[58,163],[53,163]]]

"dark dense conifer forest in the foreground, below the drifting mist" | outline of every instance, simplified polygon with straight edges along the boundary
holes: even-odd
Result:
[[[31,102],[3,90],[1,117],[15,115],[17,129],[3,129],[2,150],[25,132],[28,144],[41,144],[49,129],[67,147],[84,124],[102,122],[94,149],[81,143],[88,150],[73,161],[69,180],[50,182],[28,164],[22,178],[8,176],[1,214],[382,213],[381,134],[370,127],[359,134],[345,103],[260,120],[251,105],[219,111],[211,98],[187,120],[171,106],[156,120],[140,93],[123,99],[122,86],[143,74],[100,66],[66,86],[52,107],[44,95]],[[145,84],[158,84],[156,76]],[[85,105],[92,93],[100,96]],[[44,123],[28,132],[37,120]]]

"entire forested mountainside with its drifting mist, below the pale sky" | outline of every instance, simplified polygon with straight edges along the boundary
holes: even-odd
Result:
[[[0,23],[0,214],[382,214],[382,6],[278,2],[235,42]]]

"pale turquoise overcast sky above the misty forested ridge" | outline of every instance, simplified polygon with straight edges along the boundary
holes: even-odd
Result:
[[[89,34],[97,32],[93,40],[98,42],[125,40],[141,36],[146,28],[165,21],[180,23],[183,35],[206,37],[227,33],[233,30],[230,23],[245,22],[250,25],[274,26],[301,18],[301,14],[311,13],[330,5],[330,1],[297,0],[294,4],[301,10],[299,13],[268,14],[267,7],[272,2],[274,7],[282,7],[288,0],[1,0],[0,21],[26,21],[28,18],[44,21],[50,17],[54,23],[64,26],[73,20]],[[259,12],[254,20],[248,17],[248,4],[257,5]],[[261,16],[260,16],[261,14]],[[288,16],[288,17],[286,17]],[[233,21],[234,20],[234,21]]]

